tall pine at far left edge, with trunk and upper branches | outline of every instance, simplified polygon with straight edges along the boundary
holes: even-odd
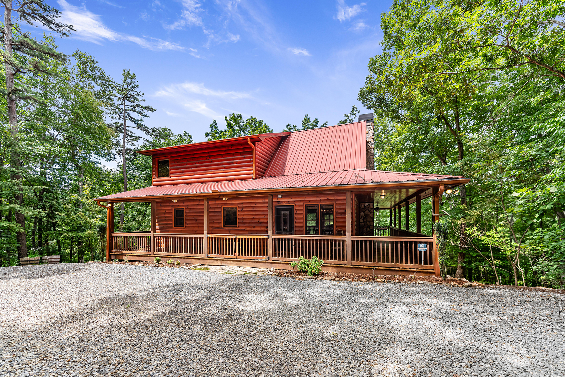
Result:
[[[22,32],[19,25],[12,24],[12,13],[15,13],[16,20],[27,24],[41,24],[50,31],[68,36],[68,32],[73,30],[71,25],[59,23],[59,10],[47,5],[42,0],[0,0],[0,7],[4,8],[4,28],[2,37],[4,48],[0,50],[0,59],[5,64],[6,88],[0,89],[0,93],[6,96],[8,122],[10,123],[10,178],[14,184],[14,203],[15,222],[19,225],[20,231],[17,232],[16,242],[18,245],[18,258],[25,258],[28,255],[25,237],[25,215],[21,211],[24,204],[23,188],[21,187],[21,161],[18,152],[18,101],[41,102],[41,97],[33,93],[32,90],[21,84],[20,77],[33,74],[34,72],[44,72],[47,75],[54,75],[47,67],[48,59],[66,60],[63,55],[47,44],[33,40],[28,33]]]

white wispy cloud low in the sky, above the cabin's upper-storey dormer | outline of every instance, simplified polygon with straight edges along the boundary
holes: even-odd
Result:
[[[190,81],[165,86],[155,92],[154,96],[168,98],[179,103],[189,111],[198,112],[198,114],[208,116],[209,118],[220,119],[222,115],[210,109],[202,97],[205,97],[206,101],[212,102],[229,102],[234,99],[253,98],[249,93],[208,89],[204,84],[191,83]]]

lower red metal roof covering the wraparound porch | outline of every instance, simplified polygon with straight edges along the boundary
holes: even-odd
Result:
[[[292,188],[331,187],[343,185],[371,185],[406,183],[410,181],[438,181],[438,180],[460,180],[461,176],[402,173],[368,169],[350,169],[328,172],[316,172],[306,174],[293,174],[282,176],[262,177],[251,180],[223,181],[192,183],[182,185],[151,186],[127,192],[121,192],[108,196],[96,198],[97,201],[120,201],[128,198],[144,198],[154,196],[190,195],[211,193],[218,190],[219,193],[240,192],[248,190],[280,190]]]

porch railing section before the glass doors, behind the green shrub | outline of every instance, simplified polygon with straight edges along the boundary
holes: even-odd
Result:
[[[273,261],[294,261],[316,255],[327,263],[346,263],[346,237],[341,236],[273,236]]]

